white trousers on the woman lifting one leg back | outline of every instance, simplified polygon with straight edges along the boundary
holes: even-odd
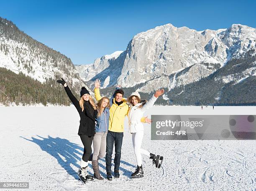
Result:
[[[138,132],[133,132],[132,134],[133,134],[133,149],[136,155],[137,164],[138,166],[141,166],[142,165],[141,154],[150,157],[150,153],[147,150],[144,150],[141,148],[144,132],[138,131]]]

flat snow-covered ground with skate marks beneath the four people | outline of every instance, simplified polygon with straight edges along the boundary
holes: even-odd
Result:
[[[146,115],[256,115],[256,107],[155,106]],[[75,107],[0,107],[0,182],[29,182],[31,191],[256,191],[256,140],[156,141],[150,125],[142,148],[163,155],[162,168],[143,157],[144,177],[131,179],[136,159],[125,124],[120,178],[106,179],[104,158],[104,181],[84,184],[76,174],[83,146]]]

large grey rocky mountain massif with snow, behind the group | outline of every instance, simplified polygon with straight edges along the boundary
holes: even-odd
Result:
[[[233,24],[228,29],[195,31],[171,24],[156,27],[133,37],[127,49],[116,59],[98,59],[86,69],[77,68],[87,83],[101,79],[103,87],[121,84],[140,92],[158,87],[169,91],[210,76],[232,59],[248,51],[255,54],[256,29]],[[113,67],[115,68],[113,70]],[[92,75],[90,75],[92,74]],[[255,65],[238,75],[222,76],[223,80],[239,81],[255,76]],[[90,80],[90,81],[89,81]]]

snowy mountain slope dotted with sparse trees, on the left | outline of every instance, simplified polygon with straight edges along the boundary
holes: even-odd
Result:
[[[76,89],[84,82],[67,56],[34,40],[11,21],[0,18],[0,67],[45,83],[63,77]]]

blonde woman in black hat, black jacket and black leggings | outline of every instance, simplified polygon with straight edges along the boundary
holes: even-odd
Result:
[[[93,176],[88,175],[87,168],[88,159],[92,153],[91,145],[95,134],[95,118],[97,116],[97,108],[92,96],[85,87],[82,87],[80,92],[81,99],[78,101],[67,86],[66,81],[63,78],[61,79],[62,80],[57,80],[57,82],[64,86],[69,99],[74,104],[80,115],[78,135],[80,136],[84,145],[84,154],[82,156],[80,163],[81,167],[79,168],[77,175],[79,179],[85,183],[86,181],[93,180]]]

